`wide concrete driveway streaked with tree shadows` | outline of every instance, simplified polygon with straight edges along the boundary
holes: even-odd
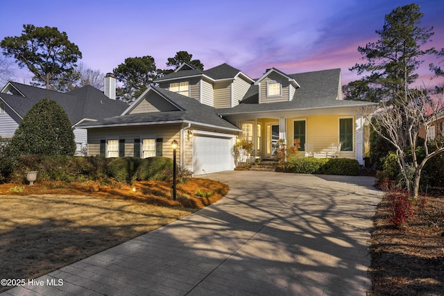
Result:
[[[373,177],[214,173],[220,202],[5,295],[366,295]],[[62,281],[59,281],[61,279]],[[59,284],[56,286],[55,284]],[[60,285],[62,283],[62,285]]]

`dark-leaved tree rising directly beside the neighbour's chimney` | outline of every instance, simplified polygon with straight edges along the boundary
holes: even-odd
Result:
[[[128,102],[140,96],[158,77],[154,58],[150,55],[142,58],[126,58],[123,64],[119,64],[113,70],[113,73],[117,80],[123,82],[123,87],[116,89],[117,96]]]

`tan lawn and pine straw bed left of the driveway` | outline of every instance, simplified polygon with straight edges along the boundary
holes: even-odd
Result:
[[[0,278],[33,279],[151,232],[220,200],[228,186],[193,178],[178,184],[94,182],[0,185]],[[0,292],[10,287],[0,287]]]

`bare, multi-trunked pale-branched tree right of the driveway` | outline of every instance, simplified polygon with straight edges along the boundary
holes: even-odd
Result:
[[[407,190],[410,192],[413,189],[413,197],[416,198],[419,193],[422,168],[429,159],[444,151],[443,137],[429,139],[428,133],[428,130],[436,124],[437,114],[442,105],[434,103],[426,90],[410,92],[406,101],[402,99],[399,98],[400,101],[397,103],[384,101],[379,112],[373,114],[373,120],[369,122],[379,136],[395,148]],[[368,113],[362,112],[362,114]],[[421,128],[425,130],[425,141],[418,141]],[[411,163],[407,160],[407,147],[411,150]],[[422,159],[418,157],[419,150],[424,151],[425,156]],[[411,184],[412,175],[413,184]]]

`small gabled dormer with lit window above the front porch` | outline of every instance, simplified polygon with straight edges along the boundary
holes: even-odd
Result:
[[[255,85],[259,87],[259,103],[293,101],[295,91],[300,87],[296,80],[275,68],[268,69]]]

